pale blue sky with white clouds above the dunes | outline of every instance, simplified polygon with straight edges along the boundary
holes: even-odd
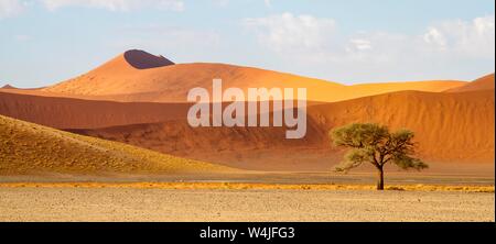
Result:
[[[342,84],[494,73],[494,0],[0,0],[0,86],[52,85],[127,49]]]

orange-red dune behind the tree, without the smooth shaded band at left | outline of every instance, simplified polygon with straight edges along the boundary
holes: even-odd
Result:
[[[353,122],[377,122],[417,133],[429,163],[494,164],[494,91],[403,91],[309,108],[304,140],[285,140],[282,127],[200,127],[183,120],[75,130],[176,156],[261,170],[330,170],[343,151],[327,132]]]

